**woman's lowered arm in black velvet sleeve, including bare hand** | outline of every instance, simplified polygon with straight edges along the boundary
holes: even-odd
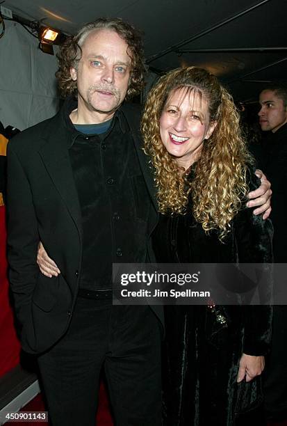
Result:
[[[248,180],[249,188],[254,190],[258,180],[253,171],[249,171]],[[261,306],[243,304],[240,307],[244,334],[243,355],[240,358],[237,377],[239,382],[244,378],[246,381],[251,381],[261,374],[264,368],[264,356],[270,347],[273,228],[270,220],[263,221],[261,216],[251,214],[249,209],[242,209],[234,219],[234,231],[239,265],[240,263],[256,265],[257,291],[263,303]]]

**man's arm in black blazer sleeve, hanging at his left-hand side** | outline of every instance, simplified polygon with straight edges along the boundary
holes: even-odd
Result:
[[[7,219],[10,284],[19,322],[31,315],[31,298],[37,276],[39,242],[37,218],[31,188],[12,143],[8,143]]]

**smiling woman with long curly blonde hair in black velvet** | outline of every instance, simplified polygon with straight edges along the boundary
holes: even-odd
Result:
[[[161,212],[158,262],[271,262],[272,226],[246,208],[257,186],[231,95],[200,68],[161,77],[142,118]],[[263,424],[270,306],[165,306],[164,424]],[[244,415],[245,412],[248,412]]]

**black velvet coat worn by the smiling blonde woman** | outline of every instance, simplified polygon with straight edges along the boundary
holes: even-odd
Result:
[[[250,173],[249,189],[256,187]],[[153,234],[158,262],[272,262],[271,242],[270,221],[245,207],[224,244],[217,232],[206,235],[192,214],[162,215]],[[236,377],[243,352],[268,351],[271,317],[270,306],[165,306],[165,425],[231,426],[240,413],[259,407],[261,377],[248,384]]]

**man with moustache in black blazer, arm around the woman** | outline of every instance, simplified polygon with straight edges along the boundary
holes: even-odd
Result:
[[[140,111],[123,102],[142,90],[142,40],[122,19],[100,18],[65,42],[59,64],[63,108],[8,149],[22,345],[38,355],[54,426],[95,425],[102,367],[118,426],[161,425],[163,313],[113,306],[111,295],[113,262],[149,261],[158,218]],[[264,191],[253,205],[265,203]],[[40,248],[42,274],[40,242],[53,258]]]

